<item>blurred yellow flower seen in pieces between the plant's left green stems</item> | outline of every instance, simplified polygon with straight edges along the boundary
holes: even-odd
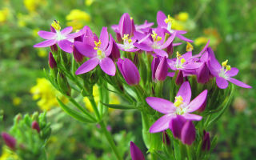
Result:
[[[94,85],[93,88],[93,96],[94,96],[94,100],[96,102],[96,105],[98,105],[99,102],[99,92],[98,92],[98,86]],[[90,112],[93,112],[93,106],[91,106],[90,101],[87,97],[83,98],[83,102],[86,104],[86,108],[88,110],[90,110]],[[110,92],[110,104],[120,104],[120,100],[118,98],[118,96],[112,92]],[[109,109],[110,111],[114,110],[114,109]]]

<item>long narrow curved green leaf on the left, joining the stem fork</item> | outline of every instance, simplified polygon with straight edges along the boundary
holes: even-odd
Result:
[[[94,123],[94,120],[92,120],[91,118],[86,118],[86,116],[80,114],[78,111],[70,109],[70,107],[62,103],[58,98],[57,100],[58,100],[58,104],[62,107],[62,110],[64,110],[67,114],[70,114],[71,117],[75,118],[80,122]]]

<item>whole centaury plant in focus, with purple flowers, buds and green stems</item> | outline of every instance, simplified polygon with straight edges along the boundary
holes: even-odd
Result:
[[[207,159],[217,144],[210,130],[230,106],[234,85],[251,88],[232,78],[238,69],[227,60],[218,62],[208,46],[210,40],[193,53],[193,41],[183,36],[186,30],[175,30],[173,21],[158,11],[158,25],[153,28],[153,22],[137,25],[123,14],[118,25],[111,26],[116,39],[105,26],[99,37],[89,26],[70,34],[72,26],[61,30],[56,20],[50,32],[38,32],[46,41],[34,47],[51,49],[46,78],[69,100],[57,97],[59,105],[80,122],[98,124],[117,159],[125,154],[120,154],[106,128],[108,108],[138,110],[142,115],[148,155],[131,142],[133,160]],[[175,50],[183,42],[186,50]],[[98,102],[94,86],[98,86]],[[111,93],[122,103],[111,104]],[[94,112],[82,105],[83,98]]]

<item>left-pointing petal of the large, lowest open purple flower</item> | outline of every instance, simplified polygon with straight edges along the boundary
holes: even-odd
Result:
[[[176,107],[170,101],[167,101],[163,98],[155,98],[155,97],[148,97],[146,98],[147,104],[149,104],[154,110],[158,110],[158,112],[162,114],[170,114],[174,113]]]

